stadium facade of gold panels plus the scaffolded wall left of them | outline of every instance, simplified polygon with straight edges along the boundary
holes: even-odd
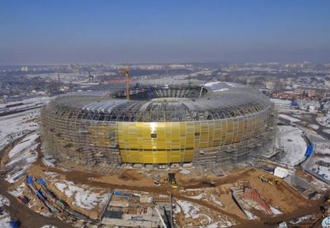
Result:
[[[98,122],[73,119],[74,111],[45,111],[42,130],[48,150],[85,163],[192,162],[200,148],[241,148],[241,142],[264,133],[272,118],[272,106],[251,115],[193,122]]]

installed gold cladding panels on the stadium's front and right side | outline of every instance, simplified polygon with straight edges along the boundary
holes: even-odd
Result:
[[[251,139],[265,131],[268,111],[201,122],[118,122],[124,163],[191,162],[195,149],[217,148]]]

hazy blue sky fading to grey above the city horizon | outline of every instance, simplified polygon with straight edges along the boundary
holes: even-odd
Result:
[[[329,0],[0,1],[0,65],[330,60]]]

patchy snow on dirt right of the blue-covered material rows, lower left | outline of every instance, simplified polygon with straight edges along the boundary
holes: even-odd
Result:
[[[109,200],[109,194],[104,193],[100,188],[77,185],[72,181],[61,180],[58,174],[54,172],[47,172],[46,174],[58,190],[68,198],[74,199],[73,205],[83,209],[103,209]]]

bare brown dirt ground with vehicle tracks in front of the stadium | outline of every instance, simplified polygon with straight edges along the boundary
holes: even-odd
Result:
[[[140,170],[140,169],[124,169],[115,171],[114,175],[103,175],[98,173],[87,173],[76,170],[63,170],[61,168],[47,168],[40,161],[30,170],[32,174],[46,177],[43,171],[56,172],[63,176],[63,179],[74,181],[74,183],[91,185],[94,187],[102,187],[106,190],[135,190],[142,192],[152,192],[155,194],[173,194],[173,198],[181,201],[195,203],[206,209],[210,209],[210,216],[221,214],[228,216],[236,221],[235,227],[270,227],[265,222],[279,222],[283,220],[292,220],[306,214],[315,214],[320,211],[323,204],[322,198],[307,200],[284,182],[279,185],[269,185],[261,183],[258,176],[265,174],[262,170],[256,168],[240,168],[228,172],[226,176],[215,176],[211,172],[203,170],[190,170],[190,174],[181,174],[179,170],[171,170],[175,172],[179,188],[173,190],[170,184],[156,186],[153,181],[155,175],[159,175],[160,179],[168,174],[168,170]],[[147,178],[147,174],[150,178]],[[304,173],[300,173],[303,176]],[[193,177],[192,177],[193,176]],[[305,174],[304,174],[305,176]],[[306,177],[306,176],[305,176]],[[269,216],[267,214],[258,214],[260,220],[248,220],[241,209],[232,200],[230,187],[236,185],[238,181],[249,181],[263,196],[265,202],[272,207],[279,209],[282,214],[277,216]],[[195,194],[187,193],[184,190],[196,190]],[[202,192],[211,192],[217,197],[222,205],[217,205],[212,200],[205,198],[189,198],[197,196]],[[88,212],[87,212],[88,214]],[[188,222],[188,220],[186,221]]]

